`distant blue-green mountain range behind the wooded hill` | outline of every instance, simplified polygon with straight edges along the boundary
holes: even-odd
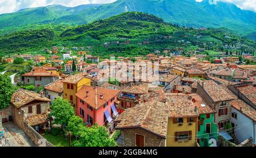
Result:
[[[187,27],[226,27],[254,39],[256,13],[241,10],[232,3],[217,2],[209,5],[204,0],[118,0],[106,5],[82,5],[64,7],[53,5],[36,9],[25,9],[12,14],[0,15],[0,35],[17,27],[32,24],[86,24],[109,18],[126,11],[141,11],[163,18],[165,22]]]

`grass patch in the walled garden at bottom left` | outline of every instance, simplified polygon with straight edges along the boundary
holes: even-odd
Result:
[[[43,137],[55,145],[55,147],[69,147],[68,139],[65,139],[62,135],[45,134]]]

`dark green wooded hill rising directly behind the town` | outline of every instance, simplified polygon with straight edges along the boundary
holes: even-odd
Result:
[[[171,38],[166,38],[171,36]],[[172,51],[181,47],[186,51],[205,48],[210,51],[254,52],[255,42],[241,37],[226,28],[178,27],[154,15],[127,12],[81,26],[41,26],[0,36],[0,53],[46,54],[46,48],[92,47],[90,53],[101,57],[146,55],[156,50]],[[214,54],[214,53],[213,53]]]

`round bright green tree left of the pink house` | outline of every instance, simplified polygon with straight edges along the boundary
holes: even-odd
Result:
[[[52,102],[50,107],[52,111],[49,115],[54,117],[55,123],[67,125],[69,120],[75,116],[75,111],[68,100],[57,98]]]

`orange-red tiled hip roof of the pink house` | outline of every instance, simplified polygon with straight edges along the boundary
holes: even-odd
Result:
[[[89,92],[87,97],[86,92]],[[110,99],[114,98],[119,92],[119,90],[114,89],[83,86],[79,92],[76,93],[76,96],[88,103],[94,109],[98,109]],[[103,95],[103,99],[100,98],[101,94]]]

